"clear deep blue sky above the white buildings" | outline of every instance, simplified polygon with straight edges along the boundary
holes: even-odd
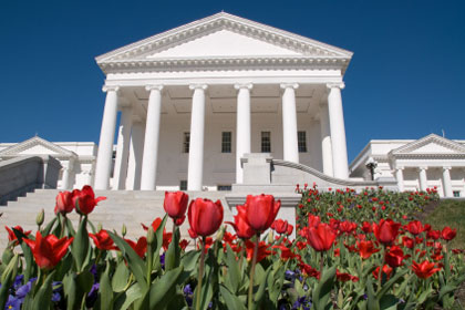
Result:
[[[0,142],[99,142],[94,58],[226,11],[354,52],[349,159],[375,138],[465,140],[465,1],[1,1]]]

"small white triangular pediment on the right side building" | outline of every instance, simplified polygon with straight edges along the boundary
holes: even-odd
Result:
[[[431,134],[392,151],[393,155],[465,154],[465,146],[452,140]]]

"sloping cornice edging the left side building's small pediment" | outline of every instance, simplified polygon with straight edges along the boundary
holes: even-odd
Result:
[[[34,147],[37,145],[43,146],[48,149],[50,149],[51,152],[55,153],[53,154],[54,157],[62,157],[62,158],[66,158],[66,157],[73,157],[76,158],[78,155],[74,152],[68,151],[56,144],[53,144],[46,140],[43,140],[39,136],[34,136],[32,138],[29,138],[27,141],[20,142],[18,144],[14,144],[10,147],[7,147],[2,151],[0,151],[0,156],[1,157],[14,157],[18,155],[21,155],[22,152]]]

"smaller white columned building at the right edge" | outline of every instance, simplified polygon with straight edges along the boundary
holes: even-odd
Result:
[[[350,165],[351,177],[395,177],[399,190],[437,188],[442,197],[465,197],[465,141],[435,134],[420,140],[372,140]]]

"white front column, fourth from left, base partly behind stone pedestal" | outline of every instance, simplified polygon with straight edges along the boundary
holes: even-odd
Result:
[[[236,183],[242,184],[244,172],[240,158],[250,153],[250,90],[251,83],[236,84],[237,121],[236,121]]]

